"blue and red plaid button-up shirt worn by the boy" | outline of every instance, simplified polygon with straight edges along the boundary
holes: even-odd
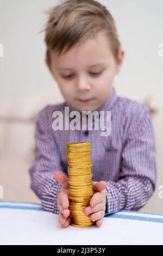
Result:
[[[98,113],[111,111],[111,134],[104,137],[100,130],[54,131],[52,114],[61,111],[64,116],[66,106],[66,102],[48,105],[37,116],[35,160],[29,173],[31,188],[41,199],[42,208],[59,213],[57,198],[61,185],[54,173],[60,170],[68,176],[66,143],[79,141],[91,143],[92,180],[108,184],[105,215],[122,209],[138,210],[145,205],[156,183],[156,150],[148,108],[117,96],[113,89],[98,109]]]

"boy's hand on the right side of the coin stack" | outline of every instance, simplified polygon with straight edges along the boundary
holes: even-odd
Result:
[[[85,209],[85,214],[90,215],[92,221],[96,221],[96,225],[102,225],[102,219],[105,215],[106,209],[106,193],[105,188],[107,184],[105,181],[93,181],[93,196],[90,200],[90,206]]]

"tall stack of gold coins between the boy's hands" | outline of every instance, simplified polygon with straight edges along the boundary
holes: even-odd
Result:
[[[67,144],[68,182],[70,184],[70,212],[73,227],[86,228],[94,224],[84,209],[90,205],[93,195],[90,142],[72,142]]]

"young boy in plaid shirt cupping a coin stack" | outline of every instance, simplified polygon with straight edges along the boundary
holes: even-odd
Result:
[[[114,78],[124,51],[102,4],[68,0],[48,14],[46,63],[65,102],[47,106],[37,117],[31,187],[43,209],[59,214],[61,226],[68,227],[66,143],[90,141],[94,194],[85,214],[101,226],[106,214],[138,210],[152,196],[156,154],[151,115],[144,105],[116,95]],[[102,137],[98,130],[54,130],[52,115],[64,115],[65,107],[71,112],[111,111],[110,136]]]

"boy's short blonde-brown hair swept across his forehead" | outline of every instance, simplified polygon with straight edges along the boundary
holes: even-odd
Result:
[[[115,21],[109,11],[95,0],[67,0],[45,12],[49,15],[46,23],[46,62],[51,64],[50,51],[60,55],[74,45],[91,39],[100,31],[108,36],[111,52],[118,59],[121,44]]]

